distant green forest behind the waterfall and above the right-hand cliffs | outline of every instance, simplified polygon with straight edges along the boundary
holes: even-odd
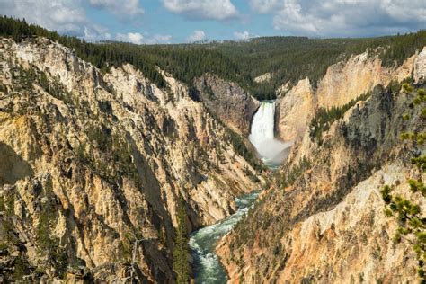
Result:
[[[366,39],[308,39],[305,37],[269,37],[248,42],[226,42],[212,44],[212,49],[222,50],[234,58],[242,70],[253,78],[270,72],[271,82],[257,84],[252,93],[255,96],[269,94],[288,81],[295,84],[309,77],[313,84],[321,79],[327,67],[340,60],[359,54],[366,49],[376,50],[383,65],[401,65],[412,56],[416,49],[426,46],[426,31],[405,35]]]

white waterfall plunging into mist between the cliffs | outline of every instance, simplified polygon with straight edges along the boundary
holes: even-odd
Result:
[[[284,143],[274,136],[275,102],[262,102],[254,113],[249,140],[262,160],[270,166],[281,164],[287,157],[290,142]]]

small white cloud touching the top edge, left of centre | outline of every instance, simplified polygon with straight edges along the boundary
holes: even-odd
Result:
[[[121,18],[136,16],[144,13],[144,9],[139,6],[138,0],[89,0],[95,7],[105,9]]]

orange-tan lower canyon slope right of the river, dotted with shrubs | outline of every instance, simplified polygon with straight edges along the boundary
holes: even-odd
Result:
[[[306,131],[277,173],[280,186],[263,192],[218,245],[230,282],[415,281],[415,253],[408,242],[393,243],[397,222],[385,217],[380,195],[392,184],[426,208],[406,182],[424,179],[410,158],[425,146],[399,139],[407,129],[426,129],[412,101],[413,94],[399,88],[377,87],[366,102],[333,122],[322,144]],[[412,119],[403,120],[404,114]],[[310,146],[299,146],[304,143]]]

